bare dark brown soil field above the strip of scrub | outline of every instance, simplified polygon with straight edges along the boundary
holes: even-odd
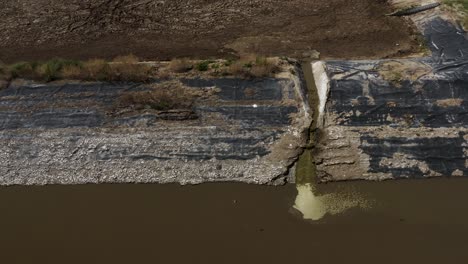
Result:
[[[385,0],[3,0],[0,60],[383,58],[418,50]]]

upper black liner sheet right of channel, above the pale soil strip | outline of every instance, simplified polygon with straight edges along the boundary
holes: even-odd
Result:
[[[413,61],[429,66],[432,72],[417,80],[405,79],[405,76],[398,84],[385,80],[378,69],[388,61],[327,62],[332,102],[328,111],[346,116],[340,125],[468,126],[468,40],[465,33],[436,18],[426,25],[425,36],[433,56]],[[344,77],[335,78],[338,74]],[[452,99],[460,100],[461,104],[443,103]],[[400,122],[402,119],[406,120],[404,124]]]

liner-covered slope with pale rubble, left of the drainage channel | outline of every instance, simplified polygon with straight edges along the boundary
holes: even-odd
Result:
[[[116,109],[165,82],[189,109]],[[310,124],[302,84],[183,79],[150,84],[15,82],[0,91],[0,184],[239,181],[281,184]]]

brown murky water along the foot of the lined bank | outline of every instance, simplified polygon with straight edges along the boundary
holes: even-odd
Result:
[[[322,199],[327,210],[339,210],[325,210],[317,221],[303,220],[293,209],[294,185],[0,188],[1,263],[468,260],[466,179],[314,189],[316,197],[341,197]]]

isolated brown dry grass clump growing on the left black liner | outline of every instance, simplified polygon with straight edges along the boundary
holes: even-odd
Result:
[[[150,91],[123,94],[117,108],[132,108],[134,110],[153,109],[167,111],[191,108],[196,95],[178,84],[157,86]]]

